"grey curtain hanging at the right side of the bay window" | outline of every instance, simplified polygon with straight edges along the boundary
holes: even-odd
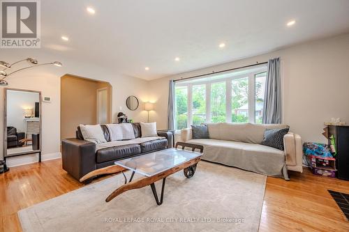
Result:
[[[280,57],[268,61],[262,123],[281,123]]]

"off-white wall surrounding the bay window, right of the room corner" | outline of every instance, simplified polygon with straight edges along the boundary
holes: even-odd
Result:
[[[167,127],[168,80],[262,63],[281,56],[283,121],[304,141],[325,142],[324,122],[341,118],[349,124],[349,33],[306,42],[276,52],[151,81],[149,100],[156,102],[151,121]],[[183,61],[185,62],[185,61]]]

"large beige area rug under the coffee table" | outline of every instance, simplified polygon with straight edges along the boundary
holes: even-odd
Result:
[[[120,174],[20,210],[18,216],[23,231],[36,232],[258,231],[265,181],[260,174],[200,162],[191,179],[182,171],[166,178],[161,206],[149,186],[106,203],[124,183]],[[158,195],[161,183],[156,183]]]

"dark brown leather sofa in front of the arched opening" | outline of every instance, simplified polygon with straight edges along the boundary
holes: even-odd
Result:
[[[132,123],[132,125],[135,137],[142,137],[140,123]],[[110,141],[107,127],[105,125],[101,125],[101,127],[105,139]],[[85,141],[80,132],[80,127],[77,127],[76,138],[62,140],[63,169],[79,180],[90,171],[113,165],[116,160],[123,160],[128,157],[173,147],[171,132],[158,132],[158,136],[165,137],[165,139],[161,138],[142,144],[128,144],[96,150],[96,144]],[[91,179],[86,180],[84,183],[91,183]]]

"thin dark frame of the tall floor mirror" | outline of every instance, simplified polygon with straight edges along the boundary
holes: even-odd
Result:
[[[43,130],[42,130],[42,114],[41,114],[41,91],[32,91],[29,89],[21,89],[21,88],[3,88],[4,91],[4,102],[3,102],[3,159],[6,157],[14,157],[18,155],[29,155],[38,153],[38,162],[41,162],[41,150],[43,144]],[[7,155],[7,93],[8,91],[22,91],[22,92],[30,92],[30,93],[38,93],[39,94],[39,150],[29,150],[22,153],[15,153],[13,155]]]

